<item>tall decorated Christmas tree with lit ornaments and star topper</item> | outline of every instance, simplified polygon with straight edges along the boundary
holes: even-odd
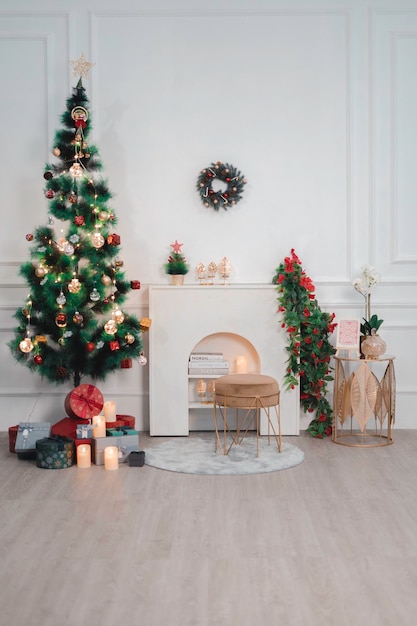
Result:
[[[96,147],[88,143],[89,101],[82,84],[92,64],[80,57],[79,76],[55,133],[57,162],[45,167],[47,225],[26,235],[31,260],[20,267],[29,286],[26,302],[15,313],[19,324],[9,343],[19,363],[56,384],[84,376],[104,380],[132,358],[146,363],[139,321],[122,310],[130,289],[119,257],[116,214]],[[143,323],[142,323],[143,322]]]

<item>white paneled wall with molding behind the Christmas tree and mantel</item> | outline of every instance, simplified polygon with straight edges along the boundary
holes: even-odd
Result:
[[[43,166],[74,85],[68,61],[81,53],[95,63],[84,82],[126,272],[142,283],[129,306],[146,315],[175,239],[193,267],[227,256],[236,283],[270,283],[295,248],[339,317],[364,314],[351,281],[371,263],[382,279],[372,310],[397,357],[397,428],[415,427],[417,0],[407,7],[2,0],[0,430],[60,419],[70,390],[15,364],[6,343],[27,295],[25,235],[47,220]],[[218,213],[195,189],[217,160],[248,179]],[[99,386],[148,427],[146,367]]]

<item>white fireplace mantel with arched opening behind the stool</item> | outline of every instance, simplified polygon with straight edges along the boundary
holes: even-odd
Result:
[[[217,341],[216,347],[223,342],[221,347],[231,365],[229,373],[233,373],[234,357],[237,356],[234,353],[248,350],[249,371],[276,378],[281,389],[282,432],[284,435],[299,434],[298,387],[284,391],[287,344],[277,306],[274,285],[149,287],[152,436],[184,436],[194,430],[188,360],[196,347],[201,351],[206,338]],[[240,344],[234,343],[239,340]],[[211,348],[213,343],[208,345]],[[195,420],[197,423],[198,418]],[[212,411],[206,408],[202,420],[197,430],[213,428]],[[261,433],[266,432],[265,428],[261,421]]]

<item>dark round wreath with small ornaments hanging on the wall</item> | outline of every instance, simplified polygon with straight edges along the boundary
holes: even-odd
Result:
[[[214,181],[219,184],[213,189]],[[215,211],[223,207],[227,211],[242,198],[245,184],[246,178],[238,169],[229,163],[217,161],[201,170],[197,190],[204,206],[212,207]]]

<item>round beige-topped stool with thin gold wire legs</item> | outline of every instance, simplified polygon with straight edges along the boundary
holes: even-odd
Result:
[[[272,376],[264,374],[231,374],[216,380],[214,396],[214,427],[216,430],[216,450],[228,454],[233,445],[240,444],[251,427],[256,431],[256,456],[259,452],[260,412],[263,410],[268,420],[268,444],[271,431],[278,451],[282,449],[281,420],[279,406],[279,385]],[[270,409],[275,409],[276,425],[271,419]],[[228,422],[228,409],[234,409],[236,422],[232,427]],[[246,410],[243,418],[239,409]],[[218,413],[220,419],[218,419]],[[229,411],[230,413],[230,411]],[[221,424],[219,428],[219,422]]]

